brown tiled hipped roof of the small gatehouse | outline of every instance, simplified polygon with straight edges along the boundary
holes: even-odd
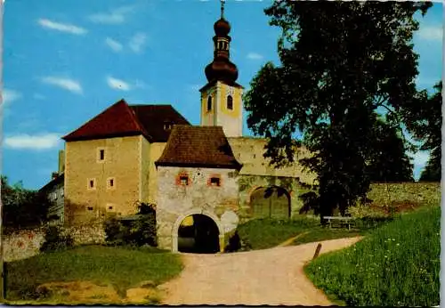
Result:
[[[240,169],[221,126],[174,126],[156,166]]]

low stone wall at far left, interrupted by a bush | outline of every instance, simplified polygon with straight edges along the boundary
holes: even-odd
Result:
[[[61,227],[62,235],[71,235],[75,245],[105,242],[102,223]],[[2,237],[4,262],[17,261],[38,255],[44,243],[44,227],[21,229],[4,233]]]

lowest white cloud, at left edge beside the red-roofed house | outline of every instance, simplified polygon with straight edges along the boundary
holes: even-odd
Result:
[[[4,139],[4,145],[14,150],[48,150],[59,145],[59,134],[16,134]]]

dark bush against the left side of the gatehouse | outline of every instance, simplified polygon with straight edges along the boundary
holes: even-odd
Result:
[[[142,204],[132,219],[110,218],[105,222],[106,241],[115,246],[157,247],[155,207]]]

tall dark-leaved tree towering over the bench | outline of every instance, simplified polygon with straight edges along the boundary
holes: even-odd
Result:
[[[264,156],[293,161],[296,131],[311,150],[320,214],[366,199],[375,113],[396,126],[418,103],[413,15],[428,3],[277,1],[265,10],[282,29],[279,66],[266,63],[245,95],[247,125],[269,139]]]

